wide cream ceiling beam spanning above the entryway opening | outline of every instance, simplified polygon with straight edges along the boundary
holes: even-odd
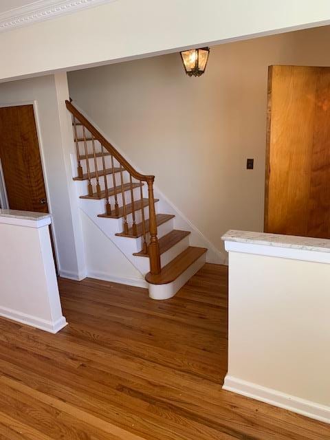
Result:
[[[117,0],[0,35],[0,79],[329,22],[328,0]]]

